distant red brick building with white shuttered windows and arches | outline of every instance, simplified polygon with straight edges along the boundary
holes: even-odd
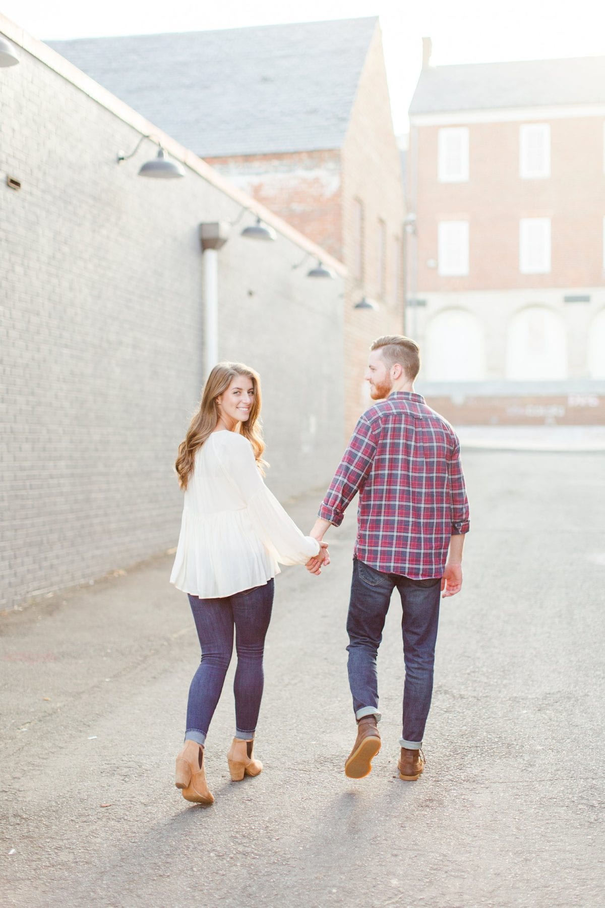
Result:
[[[594,393],[605,57],[434,67],[425,53],[410,125],[407,330],[424,380]]]

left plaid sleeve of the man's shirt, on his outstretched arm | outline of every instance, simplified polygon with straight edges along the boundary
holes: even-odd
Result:
[[[334,479],[327,489],[317,515],[339,527],[347,506],[363,489],[376,456],[376,439],[370,422],[365,416],[357,421],[353,435],[346,447]]]

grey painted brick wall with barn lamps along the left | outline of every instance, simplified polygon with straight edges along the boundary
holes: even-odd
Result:
[[[139,178],[151,143],[118,165],[151,123],[27,45],[0,80],[4,607],[175,545],[172,463],[202,381],[198,224],[240,210],[195,162]],[[292,271],[290,234],[238,229],[220,252],[220,356],[261,373],[282,497],[329,479],[343,432],[342,283]]]

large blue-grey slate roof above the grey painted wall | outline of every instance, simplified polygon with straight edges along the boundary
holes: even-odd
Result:
[[[49,41],[200,157],[340,148],[377,17]]]

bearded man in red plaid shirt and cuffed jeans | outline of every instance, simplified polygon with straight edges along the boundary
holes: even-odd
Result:
[[[417,344],[401,335],[371,347],[366,380],[373,400],[327,490],[311,536],[339,526],[359,492],[358,530],[346,630],[348,679],[357,737],[345,773],[368,775],[380,750],[376,656],[395,587],[403,608],[404,721],[402,779],[424,769],[421,750],[433,693],[439,597],[462,587],[468,501],[460,444],[450,424],[414,390]]]

